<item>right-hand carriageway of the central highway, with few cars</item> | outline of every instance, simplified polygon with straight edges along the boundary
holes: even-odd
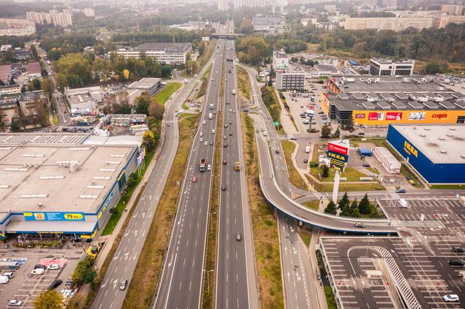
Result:
[[[234,41],[227,41],[226,48],[215,305],[216,308],[258,308],[240,109],[235,94]]]

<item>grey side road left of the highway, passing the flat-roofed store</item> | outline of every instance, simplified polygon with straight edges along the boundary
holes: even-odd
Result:
[[[199,73],[202,76],[208,68],[210,61]],[[121,308],[125,299],[126,290],[118,289],[120,280],[128,280],[134,273],[137,259],[144,245],[148,229],[153,221],[153,215],[158,206],[158,201],[162,195],[165,183],[171,170],[176,150],[179,144],[179,129],[177,118],[174,117],[175,110],[181,108],[181,103],[186,101],[190,92],[197,86],[199,78],[194,78],[188,85],[179,89],[173,98],[167,101],[165,113],[165,143],[160,153],[160,157],[153,168],[153,173],[148,178],[147,185],[141,199],[134,210],[133,217],[125,230],[124,237],[114,254],[108,271],[102,280],[102,284],[97,291],[92,308]],[[137,284],[137,282],[134,282]]]

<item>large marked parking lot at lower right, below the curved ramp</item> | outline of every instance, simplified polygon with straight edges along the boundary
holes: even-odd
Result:
[[[458,199],[380,201],[399,236],[324,237],[321,249],[342,308],[463,308],[465,210]],[[422,220],[423,219],[423,220]],[[367,273],[368,271],[368,273]],[[368,278],[370,271],[379,271]],[[394,288],[395,287],[395,288]],[[397,293],[396,291],[399,291]],[[443,296],[457,294],[459,302]]]

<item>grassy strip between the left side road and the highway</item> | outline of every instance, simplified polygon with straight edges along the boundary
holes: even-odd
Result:
[[[149,308],[160,280],[163,258],[168,247],[179,199],[180,186],[186,170],[193,132],[197,129],[200,114],[179,120],[179,146],[169,172],[165,189],[147,233],[137,266],[127,289],[123,308]]]

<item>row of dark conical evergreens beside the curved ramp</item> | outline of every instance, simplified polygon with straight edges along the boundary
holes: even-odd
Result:
[[[354,201],[349,200],[349,196],[347,192],[345,192],[342,199],[340,199],[338,205],[333,201],[328,203],[328,206],[324,209],[325,213],[329,213],[331,215],[337,215],[338,210],[340,210],[339,215],[343,217],[379,217],[378,210],[376,206],[370,203],[370,199],[368,199],[368,194],[365,194],[360,202],[357,202],[356,199]]]

